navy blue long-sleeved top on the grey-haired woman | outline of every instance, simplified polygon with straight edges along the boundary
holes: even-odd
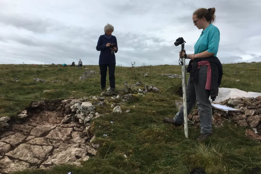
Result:
[[[99,57],[99,65],[107,65],[111,63],[116,63],[115,54],[111,54],[111,48],[106,47],[107,43],[114,43],[116,45],[117,50],[115,53],[118,52],[118,44],[117,39],[115,36],[111,35],[110,39],[107,39],[104,35],[99,37],[96,50],[101,51]]]

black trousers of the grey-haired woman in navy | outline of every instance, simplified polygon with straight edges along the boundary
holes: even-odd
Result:
[[[115,89],[115,66],[116,63],[111,63],[107,65],[99,65],[101,71],[101,87],[106,87],[106,76],[107,76],[107,67],[109,68],[109,80],[110,87]]]

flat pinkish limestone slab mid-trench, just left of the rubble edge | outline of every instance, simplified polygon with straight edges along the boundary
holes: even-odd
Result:
[[[50,133],[46,136],[46,138],[66,141],[71,139],[70,137],[71,133],[72,133],[72,128],[56,127],[55,129],[50,131]]]

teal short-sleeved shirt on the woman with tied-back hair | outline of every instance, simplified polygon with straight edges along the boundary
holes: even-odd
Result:
[[[198,41],[194,45],[194,54],[208,51],[209,53],[215,53],[213,56],[217,56],[218,45],[220,40],[220,33],[216,26],[212,23],[202,31]]]

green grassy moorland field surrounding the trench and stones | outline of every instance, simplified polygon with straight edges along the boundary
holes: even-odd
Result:
[[[223,65],[221,87],[261,92],[260,65],[261,63]],[[16,116],[30,102],[41,99],[82,98],[100,94],[99,74],[92,79],[79,80],[83,72],[87,71],[85,68],[42,65],[0,67],[0,117]],[[99,72],[98,66],[86,67]],[[151,77],[143,77],[145,72],[150,72]],[[205,168],[207,174],[245,174],[250,173],[252,167],[261,167],[261,145],[247,140],[243,128],[227,123],[224,128],[213,128],[214,134],[207,141],[197,143],[195,138],[200,133],[199,129],[190,127],[189,139],[186,140],[183,127],[163,123],[164,117],[173,117],[177,112],[175,99],[179,98],[177,89],[182,81],[161,75],[181,74],[181,66],[117,66],[115,74],[116,91],[123,87],[122,82],[127,81],[155,85],[163,88],[164,92],[148,93],[127,103],[122,109],[130,109],[128,114],[109,114],[92,121],[96,142],[101,144],[101,148],[98,155],[86,161],[82,167],[57,166],[48,171],[30,170],[16,174],[188,174],[194,167]],[[19,81],[15,82],[13,77]],[[35,77],[48,82],[35,82]],[[61,82],[50,82],[52,80]],[[109,86],[109,79],[107,85]],[[51,92],[43,93],[47,89]],[[104,114],[112,112],[113,108],[106,106],[97,109]]]

